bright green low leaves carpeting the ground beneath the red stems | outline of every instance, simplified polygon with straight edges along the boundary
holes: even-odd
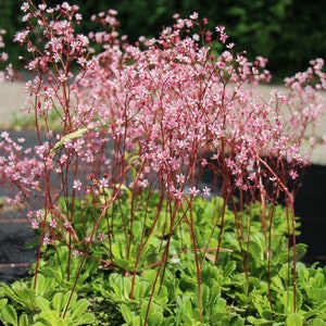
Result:
[[[164,201],[163,205],[167,203]],[[137,260],[138,251],[130,252],[129,262],[124,261],[121,256],[125,256],[126,246],[122,244],[118,233],[114,230],[117,236],[112,237],[111,246],[121,247],[121,251],[114,251],[110,260],[110,250],[103,240],[96,241],[89,251],[79,248],[79,256],[71,264],[68,248],[64,243],[57,242],[55,250],[47,247],[37,276],[17,280],[11,286],[1,285],[1,319],[8,325],[143,325],[145,321],[148,325],[297,326],[326,323],[325,268],[297,263],[298,311],[292,311],[293,277],[289,255],[293,248],[288,246],[285,210],[274,208],[271,242],[265,241],[258,215],[252,218],[251,212],[244,210],[243,234],[250,237],[250,241],[248,247],[241,248],[242,239],[238,238],[234,227],[235,214],[226,209],[224,228],[227,236],[215,263],[214,241],[222,231],[221,225],[216,224],[214,237],[206,230],[216,223],[211,213],[214,215],[216,208],[218,211],[218,204],[221,208],[223,200],[216,197],[205,201],[198,198],[193,204],[197,212],[195,227],[200,229],[198,236],[205,243],[201,248],[200,294],[189,228],[183,227],[183,233],[172,235],[171,254],[164,262],[164,268],[159,268],[159,251],[151,248],[143,250],[143,259],[139,259],[136,273],[129,262]],[[122,206],[123,211],[130,209],[126,200]],[[86,214],[87,206],[75,208],[77,215]],[[253,204],[251,209],[259,212],[261,203]],[[153,217],[150,214],[148,218]],[[74,228],[79,229],[83,223],[83,220],[76,218]],[[145,233],[150,227],[150,224],[142,225]],[[139,228],[136,227],[135,238],[138,235]],[[164,241],[160,229],[153,231],[152,237],[156,238],[156,243]],[[302,258],[305,246],[298,243],[296,250],[297,258]],[[80,272],[86,254],[88,259]],[[243,254],[248,254],[247,273],[243,272]],[[71,280],[65,278],[66,268],[71,269]],[[38,280],[34,287],[36,277]],[[63,314],[66,315],[64,318]]]

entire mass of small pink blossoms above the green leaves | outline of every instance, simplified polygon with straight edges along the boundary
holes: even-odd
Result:
[[[269,181],[287,191],[287,181],[308,163],[317,142],[318,90],[326,89],[323,60],[266,100],[255,88],[271,80],[266,60],[235,52],[225,28],[210,30],[197,13],[175,15],[159,38],[130,45],[118,36],[112,10],[92,16],[104,32],[89,36],[75,32],[82,20],[76,5],[28,1],[22,10],[28,28],[14,40],[26,47],[26,68],[36,73],[26,83],[26,110],[34,111],[39,146],[23,150],[3,133],[0,177],[1,185],[18,187],[17,200],[43,199],[52,214],[45,243],[57,224],[76,237],[73,216],[53,213],[61,196],[106,191],[111,198],[122,185],[135,193],[160,189],[177,203],[210,196],[217,185],[225,198],[235,189],[261,196]],[[50,113],[62,130],[51,130]],[[302,153],[308,131],[310,148]],[[206,171],[212,185],[200,183]],[[42,218],[30,218],[33,227]]]

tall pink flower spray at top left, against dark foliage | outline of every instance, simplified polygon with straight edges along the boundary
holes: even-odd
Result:
[[[36,7],[32,1],[24,2],[22,10],[25,13],[23,21],[30,26],[38,28],[33,30],[37,35],[37,40],[32,41],[29,28],[17,32],[14,41],[26,45],[27,51],[32,53],[33,60],[28,62],[26,68],[37,71],[41,68],[49,72],[49,64],[61,62],[62,78],[66,76],[66,64],[72,60],[83,65],[87,55],[88,38],[84,35],[74,34],[74,24],[82,20],[77,13],[77,5],[70,5],[63,2],[55,8],[48,8],[46,3]]]

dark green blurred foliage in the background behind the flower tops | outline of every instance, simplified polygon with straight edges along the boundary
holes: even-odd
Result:
[[[40,1],[39,1],[40,2]],[[49,5],[59,0],[46,1]],[[91,29],[87,24],[92,13],[115,9],[121,21],[121,34],[131,41],[139,36],[158,36],[162,26],[170,26],[172,15],[189,16],[197,11],[206,16],[212,26],[224,25],[237,50],[248,51],[250,59],[268,58],[268,68],[274,77],[283,78],[302,71],[310,59],[326,57],[326,20],[324,0],[74,0],[84,16],[80,29]],[[22,1],[0,0],[0,27],[8,30],[7,43],[11,61],[20,53],[12,46],[12,37],[20,29]],[[14,62],[17,64],[17,62]]]

